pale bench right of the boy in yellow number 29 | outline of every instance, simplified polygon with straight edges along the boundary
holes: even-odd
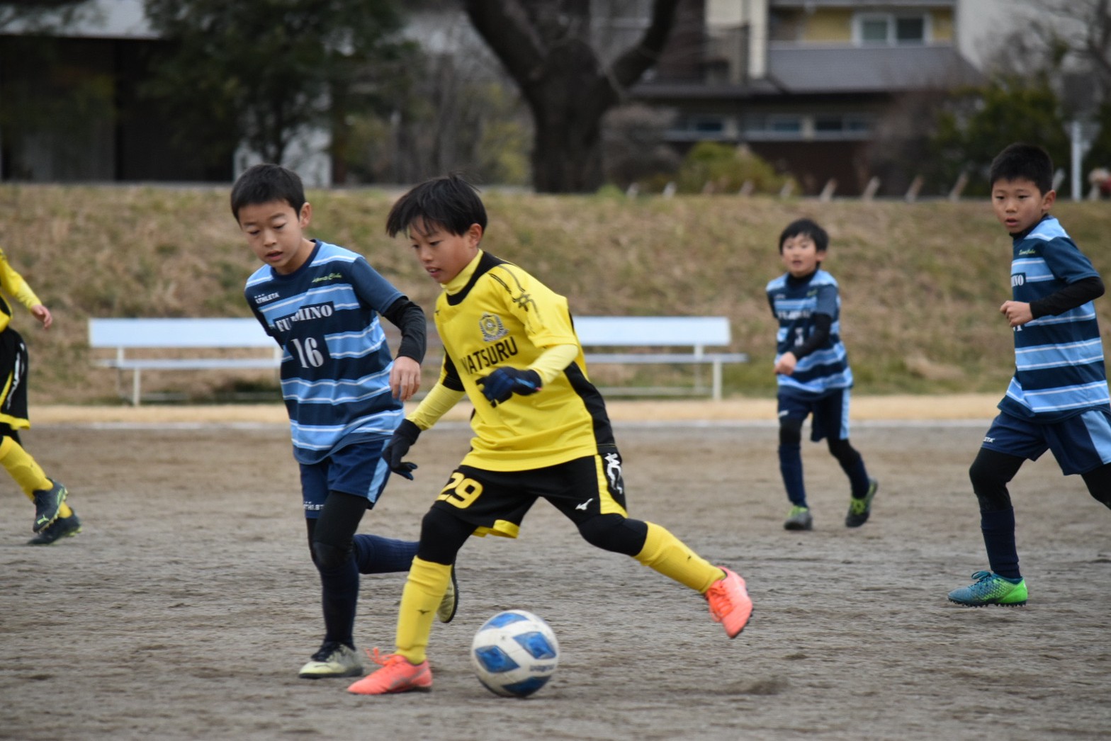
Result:
[[[593,364],[657,363],[708,364],[711,367],[710,395],[721,399],[721,369],[724,363],[748,362],[743,352],[709,352],[707,348],[724,348],[730,343],[727,317],[574,317],[574,329],[582,343],[588,369]],[[593,351],[600,348],[603,351]],[[630,351],[615,351],[629,348]],[[633,349],[637,350],[633,350]],[[679,352],[679,348],[685,348]],[[695,377],[693,388],[624,387],[607,389],[608,393],[701,393],[705,389]]]

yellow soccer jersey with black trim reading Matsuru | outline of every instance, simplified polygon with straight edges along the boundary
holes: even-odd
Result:
[[[463,465],[524,471],[598,453],[613,444],[598,389],[587,378],[582,346],[567,299],[517,266],[487,252],[457,277],[436,302],[443,341],[440,383],[464,391],[474,404],[474,438]],[[557,344],[574,344],[578,357],[539,393],[513,394],[493,407],[477,384],[498,367],[526,369]]]

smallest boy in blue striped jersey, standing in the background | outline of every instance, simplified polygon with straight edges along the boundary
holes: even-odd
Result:
[[[829,444],[849,477],[844,524],[868,521],[879,488],[864,460],[849,443],[849,390],[852,369],[841,342],[841,297],[837,280],[821,269],[829,249],[825,230],[810,219],[791,222],[779,236],[787,272],[768,283],[768,303],[779,321],[775,381],[779,387],[779,470],[791,502],[787,530],[811,530],[802,479],[802,423],[813,414],[810,439]]]

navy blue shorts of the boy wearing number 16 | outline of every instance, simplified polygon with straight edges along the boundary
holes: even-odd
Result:
[[[358,442],[341,448],[319,463],[301,463],[306,519],[320,517],[330,491],[366,497],[367,509],[374,507],[390,478],[390,467],[382,460],[387,442],[386,439]]]

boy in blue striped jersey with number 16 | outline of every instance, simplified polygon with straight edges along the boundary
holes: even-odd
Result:
[[[277,164],[250,168],[232,188],[231,212],[264,263],[243,294],[284,351],[282,397],[320,573],[324,639],[299,674],[361,675],[353,639],[359,574],[409,571],[417,553],[414,541],[356,530],[386,487],[382,449],[420,387],[424,312],[362,256],[304,236],[312,207],[297,173]],[[379,314],[401,330],[397,358]],[[454,607],[452,579],[440,620],[450,621]]]

